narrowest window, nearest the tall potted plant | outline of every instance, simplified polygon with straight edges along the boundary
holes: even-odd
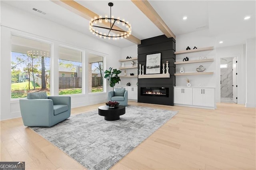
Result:
[[[103,57],[89,55],[89,93],[103,92]]]

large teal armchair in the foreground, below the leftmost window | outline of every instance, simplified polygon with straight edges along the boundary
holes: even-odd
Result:
[[[52,127],[70,117],[71,97],[28,93],[27,99],[20,99],[20,112],[25,126]]]

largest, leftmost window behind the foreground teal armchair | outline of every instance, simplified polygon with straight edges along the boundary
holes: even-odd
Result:
[[[11,38],[11,98],[23,98],[36,91],[50,95],[50,44]]]

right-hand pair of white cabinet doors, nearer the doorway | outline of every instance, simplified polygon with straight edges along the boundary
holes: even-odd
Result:
[[[214,107],[214,89],[193,88],[193,105]]]

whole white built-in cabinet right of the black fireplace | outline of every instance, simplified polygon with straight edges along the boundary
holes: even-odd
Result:
[[[214,109],[214,88],[174,87],[174,105]]]

